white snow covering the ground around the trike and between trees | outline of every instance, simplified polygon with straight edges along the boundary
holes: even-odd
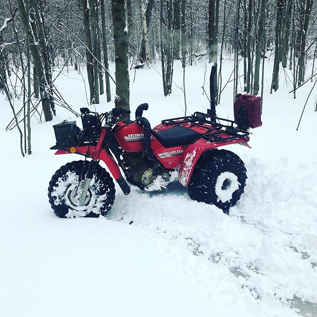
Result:
[[[224,70],[226,81],[231,61]],[[204,63],[186,70],[189,113],[208,106],[204,73]],[[159,66],[133,77],[131,71],[131,105],[149,103],[145,116],[153,125],[183,115],[179,65],[167,98]],[[17,131],[4,132],[12,115],[0,96],[7,152],[0,159],[0,316],[316,317],[317,89],[295,131],[312,84],[294,101],[283,73],[281,90],[272,95],[268,71],[266,77],[264,125],[253,131],[252,149],[230,147],[245,161],[248,181],[229,216],[191,201],[186,188],[174,184],[164,193],[133,189],[129,196],[117,188],[108,219],[57,218],[48,203],[49,180],[78,157],[53,156],[52,125],[73,117],[57,108],[53,122],[34,120],[33,154],[22,159]],[[73,108],[87,105],[77,72],[60,75],[57,86]],[[232,118],[232,100],[230,82],[219,116]],[[103,102],[96,109],[112,107]]]

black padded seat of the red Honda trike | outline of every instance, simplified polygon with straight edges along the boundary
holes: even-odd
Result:
[[[190,144],[200,137],[200,133],[198,133],[197,131],[183,127],[181,125],[163,130],[162,132],[155,132],[152,130],[152,135],[165,148]]]

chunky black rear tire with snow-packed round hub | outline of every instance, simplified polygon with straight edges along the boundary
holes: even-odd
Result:
[[[228,212],[244,192],[247,170],[243,161],[227,150],[205,152],[198,160],[188,193],[191,199]]]

